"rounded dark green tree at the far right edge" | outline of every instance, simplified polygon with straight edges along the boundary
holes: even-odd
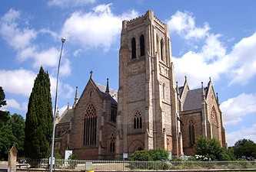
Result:
[[[234,144],[234,155],[237,158],[256,158],[256,144],[254,143],[254,141],[248,139],[241,139]]]

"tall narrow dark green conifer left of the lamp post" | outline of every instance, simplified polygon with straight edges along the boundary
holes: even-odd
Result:
[[[52,140],[52,98],[48,73],[40,68],[28,101],[25,119],[25,156],[47,157]]]

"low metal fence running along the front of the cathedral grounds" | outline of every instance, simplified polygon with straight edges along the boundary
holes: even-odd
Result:
[[[26,159],[19,168],[48,169],[48,159]],[[208,170],[208,169],[254,169],[256,161],[100,161],[100,160],[55,160],[55,170]]]

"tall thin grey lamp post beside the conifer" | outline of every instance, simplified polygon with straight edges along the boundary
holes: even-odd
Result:
[[[66,38],[62,37],[62,49],[63,49],[63,44],[65,43]],[[56,92],[55,92],[55,112],[53,115],[53,129],[52,129],[52,152],[51,152],[51,164],[50,164],[50,171],[52,172],[52,161],[53,161],[53,154],[54,154],[54,148],[55,148],[55,118],[56,118],[56,110],[57,110],[57,99],[58,99],[58,73],[59,73],[59,67],[61,65],[61,60],[62,60],[62,49],[61,49],[61,54],[59,56],[58,60],[58,72],[57,72],[57,81],[56,81]]]

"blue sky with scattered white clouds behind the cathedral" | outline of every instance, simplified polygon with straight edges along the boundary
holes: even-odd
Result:
[[[176,80],[191,88],[209,76],[219,92],[228,144],[256,141],[256,2],[6,0],[0,6],[0,86],[5,109],[25,116],[33,80],[42,65],[55,90],[61,37],[67,37],[58,106],[73,103],[89,72],[97,83],[109,77],[118,89],[121,21],[148,9],[168,24]]]

